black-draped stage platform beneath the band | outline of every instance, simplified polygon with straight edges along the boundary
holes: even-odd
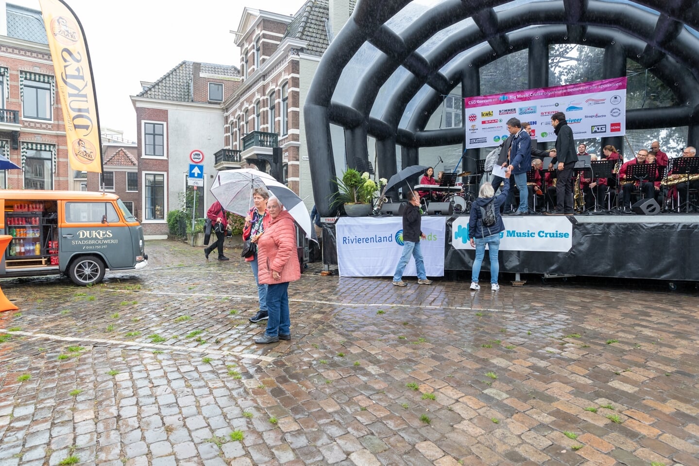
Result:
[[[475,251],[464,246],[464,232],[460,227],[468,223],[468,216],[444,218],[444,269],[470,271]],[[540,238],[535,246],[540,250],[503,250],[501,243],[501,272],[699,281],[699,214],[532,215],[503,216],[503,220],[507,229],[503,238],[516,236],[515,230],[537,236],[543,231],[541,225],[550,222],[560,226],[561,222],[570,222],[572,242],[569,248],[565,246],[565,250],[556,251],[545,250],[549,242],[556,242],[546,238]],[[337,264],[335,227],[324,224],[323,230],[324,263]],[[555,231],[559,230],[563,231],[557,226]],[[518,240],[507,238],[510,248],[512,243],[526,242]],[[561,249],[560,245],[558,247]],[[486,257],[482,271],[487,270]]]

